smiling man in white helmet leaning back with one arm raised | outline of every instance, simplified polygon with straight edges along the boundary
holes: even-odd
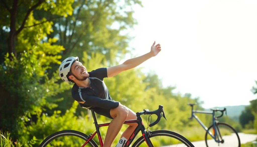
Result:
[[[106,132],[103,147],[111,147],[125,120],[136,119],[135,112],[111,98],[103,79],[134,68],[156,56],[161,51],[161,46],[160,44],[154,45],[155,41],[150,52],[142,56],[128,59],[116,66],[102,67],[91,72],[87,72],[86,67],[79,62],[78,57],[68,57],[60,65],[59,75],[61,79],[74,83],[71,89],[73,99],[78,101],[81,107],[93,109],[97,114],[112,119]],[[136,123],[128,125],[128,128],[121,135],[121,141],[117,147],[121,147],[123,142],[127,141],[137,126]]]

